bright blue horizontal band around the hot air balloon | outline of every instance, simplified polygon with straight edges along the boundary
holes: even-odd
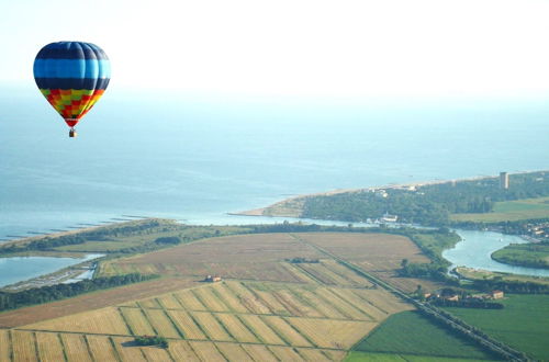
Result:
[[[111,63],[97,59],[35,59],[35,78],[111,78]]]

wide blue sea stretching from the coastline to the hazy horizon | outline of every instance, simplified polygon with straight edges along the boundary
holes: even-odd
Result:
[[[0,89],[0,238],[121,215],[238,224],[288,195],[549,169],[549,103],[172,94],[113,87],[68,128]]]

